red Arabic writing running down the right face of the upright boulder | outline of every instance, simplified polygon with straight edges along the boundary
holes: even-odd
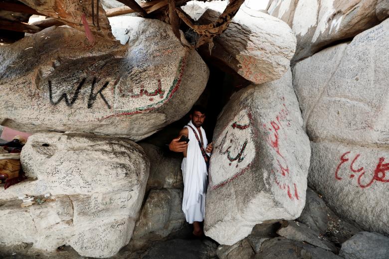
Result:
[[[282,97],[281,100],[285,101],[285,98]],[[268,125],[266,124],[263,124],[263,128],[270,133],[268,135],[267,142],[276,151],[278,155],[278,158],[276,160],[279,168],[277,168],[276,171],[272,170],[272,173],[274,173],[274,181],[281,190],[286,191],[289,199],[293,200],[294,198],[296,198],[297,200],[299,200],[296,184],[293,183],[290,185],[286,183],[287,180],[285,177],[290,177],[289,176],[290,171],[289,171],[288,162],[280,152],[280,130],[283,129],[283,127],[285,126],[286,127],[291,126],[289,120],[287,119],[288,109],[286,108],[285,104],[283,104],[283,107],[284,108],[281,109],[281,111],[276,116],[275,120],[270,121],[269,123],[270,127],[268,127]],[[286,134],[284,134],[284,137],[285,138],[287,137]],[[281,183],[281,179],[283,179],[282,182],[285,183]],[[293,194],[291,190],[292,188],[294,188]]]

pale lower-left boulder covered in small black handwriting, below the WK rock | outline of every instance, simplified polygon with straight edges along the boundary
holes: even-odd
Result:
[[[33,243],[106,258],[127,245],[149,176],[149,160],[129,140],[79,133],[37,133],[21,153],[29,179],[0,189],[1,244]],[[22,208],[18,196],[35,196]],[[38,198],[51,196],[42,204]],[[43,199],[43,198],[41,198]]]

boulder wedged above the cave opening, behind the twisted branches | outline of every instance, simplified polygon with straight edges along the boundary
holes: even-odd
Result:
[[[192,2],[184,10],[200,24],[217,20],[226,1]],[[296,48],[296,37],[280,19],[241,6],[228,28],[213,39],[213,47],[203,46],[210,55],[230,67],[243,78],[262,84],[285,74]],[[209,54],[210,52],[210,54]]]

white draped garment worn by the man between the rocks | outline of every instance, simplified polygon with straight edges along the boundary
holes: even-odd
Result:
[[[192,124],[192,121],[188,123],[197,133],[200,139],[196,127]],[[207,170],[204,157],[201,154],[200,147],[193,130],[185,126],[189,131],[189,143],[187,150],[187,157],[184,157],[181,163],[181,169],[183,171],[184,179],[184,197],[183,197],[183,211],[187,222],[192,224],[194,221],[203,221],[205,212],[205,193],[208,184]],[[200,127],[202,134],[202,141],[204,150],[208,141],[205,136],[205,131]],[[208,153],[209,155],[209,153]]]

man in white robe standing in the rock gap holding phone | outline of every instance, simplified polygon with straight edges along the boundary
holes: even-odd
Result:
[[[208,172],[200,145],[208,157],[213,147],[212,143],[208,144],[205,131],[201,127],[205,120],[204,109],[200,106],[194,106],[190,118],[191,121],[180,131],[180,136],[172,140],[169,148],[172,151],[184,153],[184,159],[181,164],[184,179],[182,209],[187,222],[194,226],[193,234],[195,236],[202,236],[203,231],[200,222],[204,220]],[[189,138],[188,144],[185,141],[179,142],[183,135]]]

